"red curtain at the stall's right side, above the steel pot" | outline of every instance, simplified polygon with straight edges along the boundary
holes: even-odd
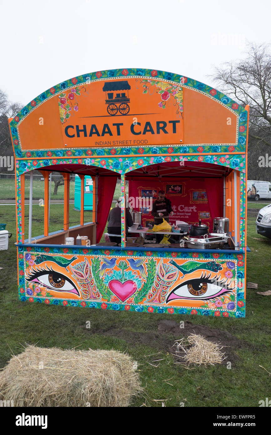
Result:
[[[211,220],[223,217],[223,177],[204,178]]]

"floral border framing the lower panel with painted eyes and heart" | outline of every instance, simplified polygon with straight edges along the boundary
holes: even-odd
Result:
[[[215,310],[215,309],[202,309],[202,308],[173,308],[164,307],[157,305],[133,305],[133,304],[122,304],[122,303],[112,303],[112,302],[96,302],[96,301],[77,301],[77,300],[62,300],[58,298],[38,298],[29,297],[26,295],[25,280],[24,280],[24,252],[46,252],[46,253],[63,253],[63,254],[78,254],[78,255],[105,255],[112,256],[118,255],[119,251],[114,249],[82,249],[82,248],[54,248],[54,247],[38,247],[37,245],[33,247],[26,247],[23,245],[18,246],[18,264],[19,264],[19,300],[22,302],[38,302],[45,303],[47,305],[63,305],[72,307],[84,307],[84,308],[101,308],[107,310],[115,311],[137,311],[137,312],[148,312],[148,313],[169,313],[169,314],[197,314],[204,316],[214,316],[214,317],[245,317],[245,299],[244,299],[244,255],[231,253],[225,254],[221,252],[217,253],[204,253],[204,252],[174,252],[174,251],[127,251],[127,257],[166,257],[166,258],[197,258],[197,259],[232,259],[237,261],[237,279],[238,279],[238,293],[237,293],[237,308],[236,311],[228,310]],[[124,254],[124,256],[126,256]]]

